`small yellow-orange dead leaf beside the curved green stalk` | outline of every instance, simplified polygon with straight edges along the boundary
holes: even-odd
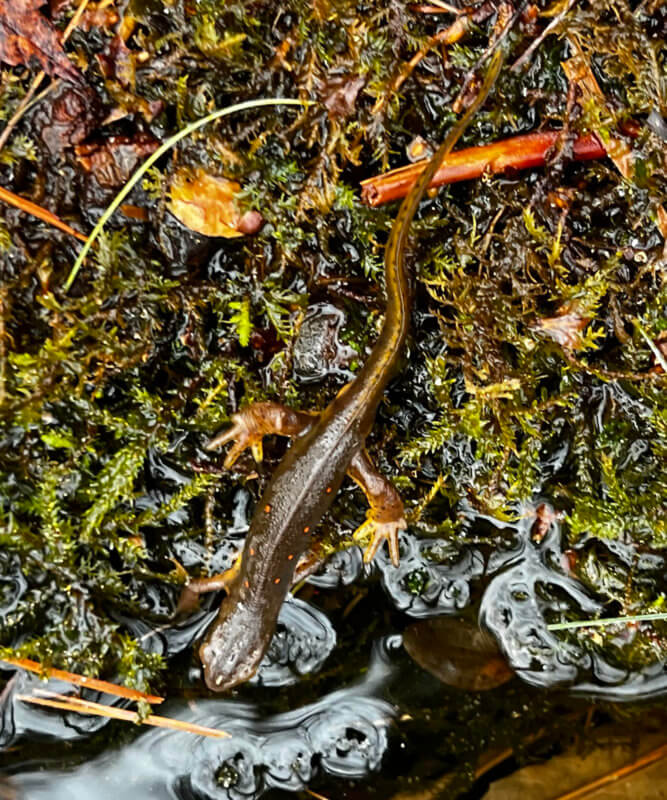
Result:
[[[171,182],[169,209],[183,225],[204,236],[231,239],[256,233],[263,222],[261,214],[240,214],[234,200],[240,190],[236,181],[203,169],[181,169]]]

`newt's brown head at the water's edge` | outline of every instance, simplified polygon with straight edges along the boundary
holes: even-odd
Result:
[[[227,601],[223,602],[218,617],[199,647],[204,681],[212,692],[225,692],[250,680],[257,672],[268,644],[261,626],[257,624],[256,612],[241,602],[227,613],[226,605]]]

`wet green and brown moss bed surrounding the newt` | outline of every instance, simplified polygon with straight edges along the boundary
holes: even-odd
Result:
[[[369,449],[420,535],[464,546],[475,531],[461,524],[462,499],[507,519],[547,497],[587,559],[605,539],[631,548],[638,565],[667,545],[667,176],[655,122],[666,113],[665,17],[656,3],[576,4],[510,69],[544,28],[547,5],[503,35],[506,68],[462,144],[539,128],[564,130],[562,141],[542,170],[448,187],[422,204],[408,255],[409,352]],[[417,136],[443,138],[501,21],[481,14],[396,89],[403,66],[448,24],[440,16],[389,0],[124,9],[80,25],[67,45],[94,102],[77,104],[81,88],[61,82],[0,154],[3,187],[80,231],[135,167],[121,140],[131,152],[253,98],[313,103],[230,116],[186,139],[132,192],[69,292],[76,240],[2,207],[0,644],[155,688],[163,659],[119,618],[164,624],[182,580],[173,561],[206,574],[234,491],[243,484],[256,498],[282,452],[267,442],[262,465],[248,454],[224,472],[206,440],[240,405],[310,410],[340,390],[341,370],[313,383],[293,367],[309,306],[344,312],[345,345],[357,354],[346,369],[363,363],[382,319],[396,207],[368,208],[358,182],[405,163]],[[62,4],[55,24],[70,11]],[[562,71],[575,44],[604,107]],[[2,119],[29,79],[27,68],[2,72]],[[572,160],[572,137],[590,131],[632,148],[630,178],[609,159]],[[86,166],[73,142],[106,148],[104,169]],[[264,220],[259,232],[218,240],[184,228],[167,208],[183,167],[238,180],[242,210]],[[343,493],[320,526],[329,549],[352,541],[349,506]],[[575,569],[605,596],[586,563]],[[664,602],[641,566],[607,596],[615,613]],[[634,647],[620,659],[655,654]]]

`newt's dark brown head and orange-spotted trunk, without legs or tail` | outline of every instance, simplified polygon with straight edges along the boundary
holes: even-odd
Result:
[[[214,691],[255,674],[310,531],[362,451],[380,397],[377,384],[372,392],[371,384],[353,381],[296,438],[274,473],[253,516],[239,575],[199,650]],[[404,527],[402,504],[400,511]]]

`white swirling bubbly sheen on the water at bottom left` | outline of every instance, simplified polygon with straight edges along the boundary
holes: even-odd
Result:
[[[255,705],[224,699],[171,701],[160,710],[226,731],[228,739],[144,729],[76,770],[19,773],[17,786],[31,800],[117,800],[119,793],[136,800],[255,800],[273,789],[302,791],[322,773],[366,777],[381,765],[396,715],[376,695],[393,677],[399,641],[377,642],[368,672],[351,687],[286,713],[264,716]]]

